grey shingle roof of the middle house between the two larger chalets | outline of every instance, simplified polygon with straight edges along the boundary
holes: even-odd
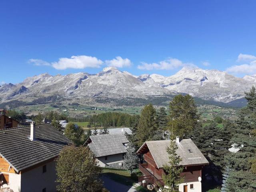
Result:
[[[129,143],[129,141],[123,134],[104,134],[90,136],[86,143],[89,143],[88,147],[96,157],[102,157],[126,153],[123,143]]]

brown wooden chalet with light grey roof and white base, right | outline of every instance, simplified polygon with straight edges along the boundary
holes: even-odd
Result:
[[[179,190],[180,192],[201,192],[202,168],[209,162],[191,139],[180,141],[179,137],[176,137],[176,142],[178,145],[176,153],[182,159],[180,165],[184,167],[184,172],[180,174],[184,177],[184,182],[180,184]],[[144,176],[139,177],[139,183],[164,186],[162,175],[166,174],[163,167],[169,162],[166,151],[169,145],[170,140],[146,141],[139,148],[137,154],[144,156],[144,162],[139,164],[139,169]]]

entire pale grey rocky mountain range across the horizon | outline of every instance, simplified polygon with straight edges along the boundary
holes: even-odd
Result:
[[[219,70],[184,67],[172,76],[142,74],[135,76],[117,68],[104,68],[98,74],[85,72],[56,75],[48,73],[28,77],[18,84],[0,86],[0,103],[12,100],[33,101],[53,95],[68,100],[148,98],[179,93],[218,102],[232,102],[244,97],[256,84],[256,76],[235,77]]]

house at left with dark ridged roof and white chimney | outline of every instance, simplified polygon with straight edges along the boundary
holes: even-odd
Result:
[[[71,141],[50,124],[0,130],[0,188],[56,192],[54,159]]]

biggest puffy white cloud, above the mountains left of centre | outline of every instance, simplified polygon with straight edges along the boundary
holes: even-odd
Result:
[[[58,70],[67,68],[84,69],[87,67],[99,68],[103,63],[102,60],[86,55],[72,56],[71,58],[60,58],[58,62],[52,62],[52,67]]]

